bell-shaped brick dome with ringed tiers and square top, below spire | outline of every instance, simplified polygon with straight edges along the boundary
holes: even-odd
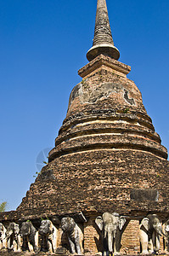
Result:
[[[138,87],[126,77],[129,71],[127,65],[104,55],[79,71],[84,77],[71,91],[49,161],[96,148],[130,148],[167,158]]]

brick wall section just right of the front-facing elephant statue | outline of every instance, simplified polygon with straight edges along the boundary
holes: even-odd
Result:
[[[140,253],[139,220],[130,220],[121,237],[121,253]]]

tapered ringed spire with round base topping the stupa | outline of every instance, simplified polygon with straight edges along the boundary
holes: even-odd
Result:
[[[98,55],[108,55],[118,60],[119,50],[115,48],[111,35],[110,21],[105,0],[98,0],[93,47],[87,52],[87,60],[92,61]]]

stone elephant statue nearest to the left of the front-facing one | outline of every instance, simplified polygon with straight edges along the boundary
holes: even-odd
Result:
[[[70,217],[65,217],[61,219],[61,229],[66,233],[71,253],[77,253],[78,255],[82,255],[83,247],[83,234],[82,230],[75,223],[75,220]]]

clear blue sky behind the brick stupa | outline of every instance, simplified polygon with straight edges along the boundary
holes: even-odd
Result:
[[[92,46],[96,0],[0,0],[0,201],[15,209],[53,148]],[[119,61],[169,148],[169,1],[107,0]]]

